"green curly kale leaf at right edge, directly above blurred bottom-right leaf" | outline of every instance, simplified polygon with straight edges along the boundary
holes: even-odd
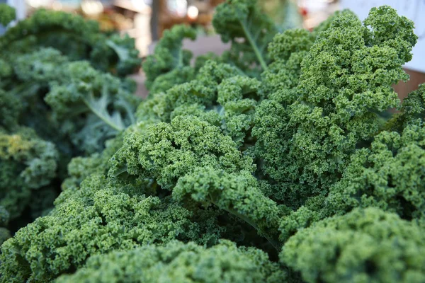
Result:
[[[402,134],[381,132],[370,149],[353,154],[344,176],[331,187],[327,215],[353,207],[380,207],[404,219],[425,219],[425,129],[409,125]]]

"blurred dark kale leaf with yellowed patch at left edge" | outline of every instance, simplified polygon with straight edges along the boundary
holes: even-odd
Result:
[[[34,201],[38,190],[57,175],[55,145],[40,139],[32,129],[0,129],[0,205],[16,219]]]

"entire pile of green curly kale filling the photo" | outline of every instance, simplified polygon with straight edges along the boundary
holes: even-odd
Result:
[[[279,33],[227,0],[213,25],[221,56],[164,32],[142,101],[128,37],[51,11],[0,37],[0,282],[425,282],[412,21]]]

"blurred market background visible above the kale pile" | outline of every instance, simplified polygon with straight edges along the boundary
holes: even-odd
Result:
[[[95,19],[105,31],[114,30],[135,38],[141,57],[146,57],[154,50],[155,42],[164,30],[182,23],[191,25],[198,31],[195,42],[184,42],[184,47],[195,55],[206,52],[221,54],[229,47],[214,34],[211,23],[215,6],[222,0],[0,0],[2,2],[16,8],[18,19],[25,18],[38,8],[69,11]],[[414,48],[414,59],[405,66],[411,81],[399,83],[395,89],[403,98],[409,91],[416,89],[419,83],[425,82],[425,57],[421,56],[425,51],[425,20],[421,17],[425,12],[425,1],[259,0],[259,3],[281,30],[314,28],[342,8],[351,8],[363,20],[373,6],[390,5],[399,14],[414,21],[416,34],[419,35],[419,42]],[[0,27],[0,34],[2,30],[4,32],[4,27]],[[133,79],[140,85],[139,94],[145,96],[142,70]]]

